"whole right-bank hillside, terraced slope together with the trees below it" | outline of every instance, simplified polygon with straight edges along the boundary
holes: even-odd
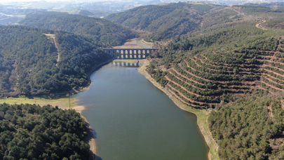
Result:
[[[148,58],[147,72],[174,98],[213,110],[220,159],[283,159],[283,15],[273,11],[215,6]]]

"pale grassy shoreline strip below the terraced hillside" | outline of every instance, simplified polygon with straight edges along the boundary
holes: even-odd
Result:
[[[160,84],[158,84],[147,72],[146,72],[146,67],[147,65],[149,65],[149,61],[148,60],[143,60],[143,64],[142,66],[140,66],[138,69],[140,71],[141,74],[143,74],[145,76],[146,79],[148,79],[151,84],[153,84],[154,86],[156,86],[156,88],[160,89],[161,91],[163,91],[163,93],[165,93],[166,95],[168,95],[168,97],[173,100],[173,102],[175,103],[175,105],[177,105],[177,107],[180,107],[180,109],[187,111],[187,112],[191,112],[192,114],[195,114],[197,117],[197,124],[198,124],[198,128],[199,131],[201,132],[201,134],[203,135],[203,138],[205,139],[206,145],[209,147],[209,152],[208,152],[208,159],[209,160],[215,160],[215,159],[219,159],[218,156],[218,145],[215,142],[214,138],[212,137],[212,134],[208,128],[208,115],[210,114],[210,110],[209,109],[194,109],[192,107],[188,107],[187,105],[184,105],[182,102],[180,102],[179,100],[177,100],[176,98],[173,97],[173,95],[171,95],[168,91],[165,90],[165,88],[163,88]]]

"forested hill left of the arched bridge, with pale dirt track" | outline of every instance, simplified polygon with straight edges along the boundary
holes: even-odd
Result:
[[[92,39],[68,32],[22,26],[0,26],[0,32],[0,95],[4,97],[58,93],[86,85],[90,83],[87,72],[110,58]]]

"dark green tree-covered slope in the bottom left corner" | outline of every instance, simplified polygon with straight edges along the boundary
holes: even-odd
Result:
[[[0,104],[0,159],[89,159],[86,121],[50,105]]]

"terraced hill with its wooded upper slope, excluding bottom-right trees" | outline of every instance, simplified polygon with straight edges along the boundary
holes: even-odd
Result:
[[[215,108],[245,93],[284,91],[284,41],[278,36],[284,32],[257,28],[258,19],[235,10],[215,8],[203,17],[203,33],[196,29],[151,55],[149,74],[185,105]],[[217,25],[223,13],[229,18]]]

